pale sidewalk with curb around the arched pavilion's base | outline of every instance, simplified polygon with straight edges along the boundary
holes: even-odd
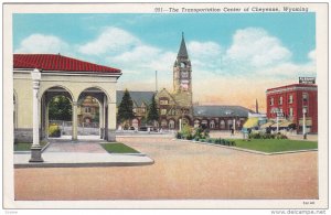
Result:
[[[14,168],[85,168],[85,166],[134,166],[153,164],[142,153],[108,153],[98,142],[52,142],[42,152],[44,162],[30,163],[31,153],[15,152]]]

